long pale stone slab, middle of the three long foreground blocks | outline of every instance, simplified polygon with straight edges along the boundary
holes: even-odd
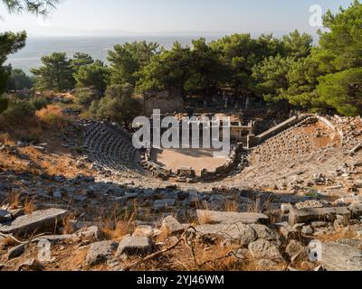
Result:
[[[237,213],[227,211],[197,210],[197,218],[204,224],[265,224],[269,217],[261,213]]]

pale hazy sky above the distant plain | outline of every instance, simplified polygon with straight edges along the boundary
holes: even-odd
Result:
[[[1,2],[1,1],[0,1]],[[51,17],[9,15],[0,4],[0,31],[30,35],[129,33],[285,32],[310,27],[310,5],[337,10],[351,0],[62,0]],[[98,32],[100,33],[100,32]]]

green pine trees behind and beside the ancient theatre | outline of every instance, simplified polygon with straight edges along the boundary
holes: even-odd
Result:
[[[55,4],[56,1],[36,9],[26,1],[9,9],[44,14]],[[362,5],[355,1],[346,10],[340,8],[337,14],[329,11],[323,20],[325,29],[319,32],[316,46],[309,34],[298,31],[281,38],[271,34],[256,39],[250,34],[233,34],[214,42],[200,38],[191,46],[175,42],[170,50],[154,42],[127,42],[109,51],[109,64],[85,53],[76,53],[70,59],[66,53],[54,52],[42,58],[40,68],[31,70],[32,78],[4,65],[9,54],[24,47],[26,33],[2,33],[0,91],[33,86],[53,91],[77,88],[81,89],[79,103],[85,105],[89,115],[112,119],[119,119],[112,110],[129,107],[119,101],[135,103],[135,92],[176,89],[180,97],[197,94],[207,98],[217,88],[230,88],[241,97],[262,98],[314,112],[360,115]],[[121,92],[122,88],[128,92]],[[94,97],[87,89],[96,89],[100,94]],[[106,90],[118,91],[119,98],[110,97]],[[4,104],[9,103],[4,98],[0,100],[3,111]]]

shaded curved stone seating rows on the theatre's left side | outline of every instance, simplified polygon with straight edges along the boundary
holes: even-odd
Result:
[[[90,121],[83,126],[83,146],[90,154],[94,168],[110,172],[140,170],[138,150],[128,131],[107,122]]]

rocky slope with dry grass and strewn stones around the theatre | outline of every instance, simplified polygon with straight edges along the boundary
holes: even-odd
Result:
[[[4,141],[0,270],[362,270],[362,122],[327,120],[193,184],[105,173],[77,122]]]

